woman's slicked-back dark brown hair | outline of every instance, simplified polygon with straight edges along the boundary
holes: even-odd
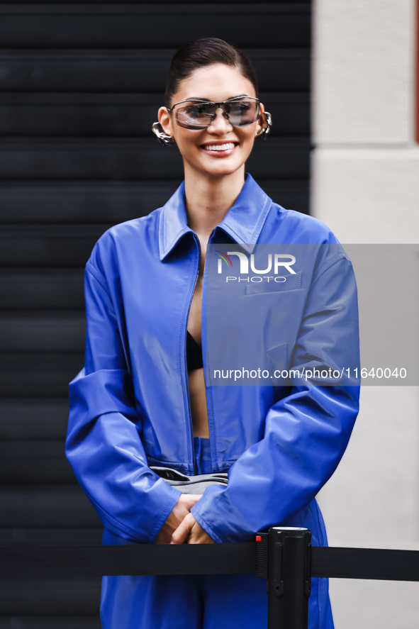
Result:
[[[190,77],[196,69],[213,63],[223,63],[237,68],[242,76],[249,79],[255,87],[257,95],[255,70],[245,53],[222,39],[205,37],[184,44],[174,54],[164,92],[166,106],[172,105],[173,95],[176,94],[183,79]]]

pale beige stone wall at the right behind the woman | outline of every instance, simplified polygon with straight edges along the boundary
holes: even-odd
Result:
[[[314,0],[312,211],[342,243],[419,243],[414,16],[414,0]],[[364,386],[361,401],[319,496],[329,543],[418,549],[419,386]],[[330,591],[336,629],[418,627],[419,584]]]

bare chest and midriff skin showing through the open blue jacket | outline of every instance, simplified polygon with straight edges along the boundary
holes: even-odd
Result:
[[[201,266],[199,268],[198,279],[196,280],[194,295],[192,296],[188,319],[188,331],[194,337],[196,343],[199,343],[199,345],[201,345],[201,303],[204,265],[205,256],[202,255]],[[188,381],[194,437],[209,437],[208,411],[206,406],[206,390],[203,368],[190,369],[188,372]]]

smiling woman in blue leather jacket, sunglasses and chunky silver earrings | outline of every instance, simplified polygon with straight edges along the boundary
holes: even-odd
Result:
[[[358,389],[211,384],[206,251],[315,245],[298,272],[289,255],[284,284],[246,289],[255,312],[268,296],[282,318],[269,357],[285,347],[286,364],[299,367],[357,362],[352,267],[323,223],[274,204],[246,176],[269,115],[242,52],[213,38],[187,44],[165,99],[153,127],[179,148],[184,183],[163,208],[108,230],[86,264],[86,364],[70,384],[67,457],[104,523],[104,544],[247,541],[283,524],[310,528],[325,545],[314,496],[345,450]],[[181,494],[154,466],[228,470],[228,484]],[[101,619],[104,629],[262,629],[266,606],[266,584],[252,575],[104,577]],[[325,579],[313,579],[310,627],[333,627]]]

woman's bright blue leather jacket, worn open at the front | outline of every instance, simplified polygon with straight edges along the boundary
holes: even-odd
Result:
[[[337,240],[315,218],[274,204],[247,174],[210,243]],[[313,355],[330,364],[334,352],[342,366],[357,362],[356,284],[337,247],[293,286],[300,311],[281,315],[276,344],[293,364]],[[86,264],[86,362],[69,386],[66,452],[105,528],[127,540],[152,542],[180,495],[150,465],[194,474],[185,347],[199,256],[181,184],[164,207],[104,233]],[[203,334],[204,355],[205,343]],[[229,479],[206,489],[196,520],[217,542],[282,523],[325,543],[314,497],[347,446],[358,386],[206,382],[213,471],[229,469]]]

